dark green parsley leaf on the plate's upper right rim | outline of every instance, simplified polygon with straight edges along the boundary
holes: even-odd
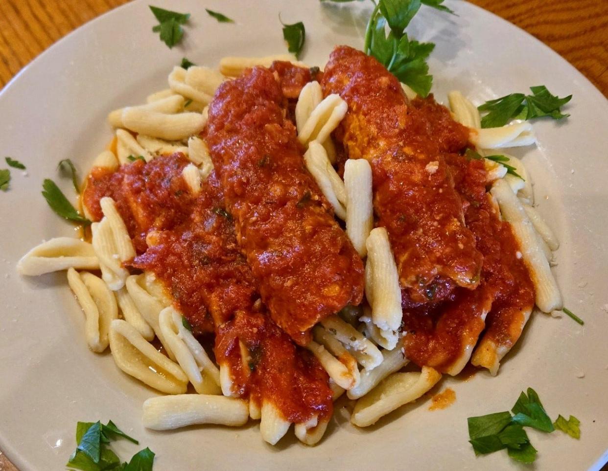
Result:
[[[562,119],[570,116],[562,114],[561,107],[572,99],[572,95],[559,98],[551,95],[544,85],[530,87],[531,95],[514,93],[489,100],[478,106],[479,111],[488,111],[482,118],[482,128],[498,128],[512,119],[530,120],[543,116]]]

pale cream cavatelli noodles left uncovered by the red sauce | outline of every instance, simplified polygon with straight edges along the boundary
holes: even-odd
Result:
[[[101,153],[97,167],[116,170],[133,158],[149,162],[163,154],[182,153],[190,160],[182,176],[192,194],[213,170],[207,145],[200,132],[207,122],[207,106],[224,80],[254,65],[270,66],[266,58],[224,58],[219,71],[192,66],[174,67],[168,89],[148,96],[144,105],[117,109],[108,115],[115,128],[112,150]],[[406,90],[408,95],[412,91]],[[455,120],[471,128],[470,140],[482,156],[492,149],[536,142],[529,123],[481,129],[480,117],[460,92],[449,94]],[[399,277],[387,231],[374,229],[371,167],[367,160],[347,160],[344,179],[334,169],[336,149],[331,133],[348,109],[339,95],[323,98],[319,83],[306,84],[295,108],[298,139],[306,149],[304,162],[320,190],[345,222],[346,233],[365,260],[365,296],[369,307],[344,309],[322,320],[313,329],[306,348],[313,352],[330,377],[334,400],[346,392],[356,401],[351,422],[358,427],[374,424],[401,405],[419,399],[441,379],[430,367],[399,372],[409,363],[400,331],[402,308]],[[561,295],[550,270],[552,252],[559,246],[551,229],[534,208],[530,176],[523,163],[508,156],[508,165],[523,179],[507,174],[500,162],[485,160],[494,180],[491,195],[505,221],[513,227],[536,291],[536,304],[544,312],[562,307]],[[30,250],[19,261],[24,275],[41,275],[67,269],[69,286],[85,313],[85,337],[89,348],[110,348],[120,370],[165,395],[143,404],[143,424],[153,430],[169,430],[193,424],[239,426],[249,418],[260,419],[264,441],[275,444],[290,423],[270,403],[258,407],[235,397],[229,372],[210,359],[192,335],[182,314],[153,273],[133,275],[123,267],[135,255],[125,222],[116,202],[101,201],[103,219],[92,224],[92,242],[72,238],[50,239]],[[87,214],[86,207],[84,208]],[[148,237],[153,238],[153,233]],[[98,276],[95,273],[100,273]],[[526,313],[525,320],[530,312]],[[151,343],[159,340],[166,354]],[[466,357],[465,363],[471,356]],[[246,352],[242,353],[246,356]],[[472,356],[474,365],[496,374],[506,351],[486,342]],[[464,363],[463,363],[464,365]],[[188,393],[189,385],[194,393]],[[313,417],[294,424],[300,441],[318,442],[327,421]]]

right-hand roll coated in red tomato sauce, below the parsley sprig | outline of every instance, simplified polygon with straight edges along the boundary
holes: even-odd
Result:
[[[446,278],[476,287],[482,256],[442,156],[465,146],[468,130],[432,100],[410,106],[395,76],[351,47],[334,49],[321,85],[324,95],[339,94],[348,103],[336,138],[348,158],[370,162],[376,225],[389,233],[409,297],[434,301],[429,294],[442,291]]]

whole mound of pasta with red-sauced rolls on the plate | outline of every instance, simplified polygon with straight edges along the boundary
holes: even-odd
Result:
[[[269,444],[294,424],[313,445],[342,395],[375,424],[469,362],[496,375],[534,307],[562,308],[558,241],[501,151],[532,126],[448,101],[348,46],[320,69],[176,66],[109,114],[85,236],[19,272],[67,270],[89,348],[161,393],[145,427],[252,419]]]

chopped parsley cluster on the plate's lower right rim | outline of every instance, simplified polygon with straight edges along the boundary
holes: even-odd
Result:
[[[516,461],[533,462],[537,451],[530,443],[530,438],[523,427],[551,433],[555,430],[553,427],[555,425],[568,435],[576,435],[575,438],[580,436],[578,428],[580,422],[573,416],[570,416],[569,421],[559,416],[555,424],[551,424],[541,399],[532,388],[528,388],[527,394],[523,392],[520,394],[511,412],[513,416],[510,412],[504,411],[467,419],[469,442],[476,456],[506,449],[508,455]]]

